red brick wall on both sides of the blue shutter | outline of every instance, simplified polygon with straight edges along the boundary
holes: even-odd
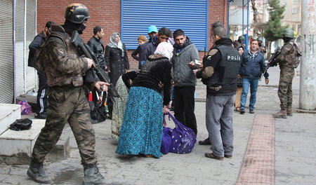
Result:
[[[103,38],[103,43],[105,44],[108,43],[113,32],[120,32],[121,1],[78,0],[74,2],[84,4],[89,9],[91,18],[88,20],[88,25],[84,30],[84,41],[88,41],[88,39],[91,38],[93,35],[93,27],[96,25],[99,25],[104,29],[105,37]],[[65,22],[65,9],[67,8],[67,5],[71,3],[71,1],[65,0],[37,0],[37,32],[41,32],[41,30],[44,29],[46,22],[50,20],[58,25],[63,24],[63,22]],[[225,26],[227,25],[227,0],[209,1],[209,25],[216,21],[223,22]],[[209,48],[212,44],[213,43],[209,39]],[[138,62],[131,57],[132,52],[133,50],[128,51],[131,69],[137,69]],[[202,60],[204,52],[201,52],[200,56]]]

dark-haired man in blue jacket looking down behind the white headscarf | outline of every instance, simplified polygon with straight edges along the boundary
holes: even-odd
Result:
[[[170,29],[162,27],[158,31],[158,35],[152,37],[152,40],[142,45],[142,50],[140,51],[140,62],[146,61],[150,55],[154,54],[157,46],[161,42],[166,42],[169,40],[169,37],[172,36]],[[144,62],[145,63],[145,62]]]

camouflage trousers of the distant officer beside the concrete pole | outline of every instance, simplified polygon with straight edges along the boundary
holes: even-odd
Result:
[[[281,72],[279,74],[279,90],[277,95],[281,102],[280,107],[291,107],[292,106],[292,81],[294,78],[294,68],[291,67],[280,67]]]

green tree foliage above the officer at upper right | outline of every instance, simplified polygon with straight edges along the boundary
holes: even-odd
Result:
[[[268,41],[277,41],[281,39],[282,32],[287,26],[281,25],[281,20],[284,18],[285,6],[279,5],[279,0],[270,0],[268,8],[269,11],[269,21],[267,27],[265,27],[265,39]]]

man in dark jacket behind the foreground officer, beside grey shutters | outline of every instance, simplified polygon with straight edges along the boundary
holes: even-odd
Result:
[[[49,29],[51,28],[51,25],[54,24],[55,23],[52,21],[46,22],[44,30],[35,36],[32,43],[29,44],[29,67],[34,67],[34,53],[39,46],[46,42],[46,39],[50,34]],[[37,71],[37,74],[39,75],[39,90],[37,90],[37,114],[35,115],[35,118],[46,119],[48,85],[46,82],[45,71]]]

